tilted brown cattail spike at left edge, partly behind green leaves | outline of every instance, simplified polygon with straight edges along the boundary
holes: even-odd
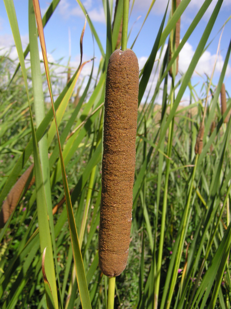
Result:
[[[5,225],[6,221],[10,218],[12,212],[17,206],[19,202],[19,198],[23,192],[23,189],[27,183],[27,180],[31,174],[33,167],[34,167],[34,164],[31,164],[31,166],[27,168],[27,170],[23,173],[23,175],[19,178],[19,180],[16,182],[14,187],[11,189],[11,191],[7,195],[6,200],[4,201],[1,212],[0,212],[0,228],[2,228]],[[35,178],[33,177],[28,188],[31,187],[31,185],[34,182],[35,182]]]

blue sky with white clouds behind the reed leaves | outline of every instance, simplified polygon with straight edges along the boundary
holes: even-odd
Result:
[[[111,0],[109,0],[111,2]],[[106,22],[103,9],[102,0],[83,0],[84,4],[93,24],[101,40],[101,44],[105,50],[106,46]],[[131,1],[132,3],[132,1]],[[217,1],[213,0],[205,16],[200,21],[199,25],[196,27],[193,34],[190,36],[189,40],[185,44],[183,50],[179,57],[179,72],[184,73],[191,61],[193,53],[195,52],[196,46],[201,38],[201,35],[208,23],[211,12],[216,5]],[[28,44],[28,1],[27,0],[14,0],[16,15],[19,23],[19,31],[21,34],[23,48]],[[49,0],[40,0],[40,8],[42,15],[48,8],[50,2]],[[115,0],[113,0],[114,8]],[[133,43],[134,38],[139,32],[141,25],[144,21],[145,15],[151,4],[151,0],[135,0],[132,14],[129,20],[129,29],[132,27],[131,36],[128,41],[128,47]],[[148,19],[145,22],[143,29],[133,47],[136,53],[140,68],[144,65],[147,60],[156,35],[159,29],[160,23],[163,18],[164,11],[166,9],[167,0],[156,0]],[[181,37],[185,34],[187,28],[189,27],[191,21],[195,17],[196,13],[200,9],[202,2],[197,0],[192,0],[188,5],[187,9],[183,13],[181,18]],[[211,36],[208,40],[212,43],[209,45],[208,49],[202,55],[198,66],[196,67],[196,72],[194,73],[193,82],[199,83],[202,87],[203,81],[206,80],[205,73],[208,76],[212,73],[212,67],[214,65],[215,56],[217,52],[217,46],[220,39],[221,31],[220,28],[224,22],[231,15],[231,2],[230,0],[224,0],[219,12],[218,18],[216,20],[215,26],[212,30]],[[49,54],[49,59],[51,61],[57,61],[63,58],[62,64],[67,65],[69,56],[71,57],[71,66],[77,68],[80,60],[80,49],[79,40],[84,25],[85,16],[79,7],[76,0],[61,0],[55,13],[52,15],[48,24],[44,29],[47,53]],[[229,21],[224,28],[221,45],[219,49],[219,55],[217,58],[216,68],[214,72],[213,83],[216,84],[220,71],[222,68],[223,61],[225,59],[225,54],[229,46],[229,41],[231,38],[231,21]],[[14,45],[11,28],[9,25],[8,17],[6,15],[6,10],[4,2],[0,1],[0,53],[5,53],[10,47]],[[15,49],[11,49],[11,57],[16,58]],[[94,42],[93,48],[93,38],[90,32],[90,27],[86,25],[86,31],[83,38],[83,61],[89,60],[95,55],[95,70],[99,64],[100,51]],[[158,56],[158,55],[157,55]],[[86,65],[82,71],[82,75],[89,74],[91,69],[91,64]],[[226,70],[225,75],[225,85],[229,94],[231,92],[231,61],[229,61],[229,66]],[[186,94],[187,100],[187,94]]]

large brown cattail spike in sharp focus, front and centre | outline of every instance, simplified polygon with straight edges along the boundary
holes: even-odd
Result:
[[[115,50],[107,67],[99,268],[108,277],[125,269],[132,224],[139,65],[131,49]]]

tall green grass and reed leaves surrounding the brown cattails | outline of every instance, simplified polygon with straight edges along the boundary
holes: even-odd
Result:
[[[175,84],[168,71],[211,3],[206,0],[201,5],[169,62],[168,49],[165,52],[163,47],[168,44],[169,35],[188,2],[182,0],[169,20],[167,13],[163,17],[149,59],[140,72],[131,243],[127,267],[115,281],[115,308],[226,309],[231,306],[231,130],[230,120],[224,124],[226,114],[222,116],[219,103],[231,41],[227,43],[218,83],[214,85],[212,76],[208,77],[198,91],[191,85],[191,77],[209,43],[222,5],[222,1],[218,1],[208,24],[201,30],[187,72]],[[57,3],[53,1],[53,10]],[[19,176],[33,162],[36,184],[23,192],[10,220],[0,230],[0,307],[106,308],[108,279],[98,267],[103,101],[105,64],[117,41],[121,10],[115,17],[117,26],[112,33],[111,20],[108,20],[105,33],[111,36],[108,36],[106,50],[87,17],[103,57],[99,78],[95,83],[92,74],[85,77],[88,84],[81,89],[83,94],[74,106],[73,90],[81,68],[74,72],[70,82],[54,99],[56,127],[53,111],[46,103],[43,105],[45,116],[41,119],[36,116],[36,96],[38,101],[43,96],[41,88],[36,87],[39,83],[46,84],[54,91],[56,82],[47,82],[44,75],[38,74],[37,40],[33,40],[33,35],[30,35],[31,67],[25,69],[13,2],[6,1],[5,5],[21,67],[16,70],[18,63],[12,63],[7,54],[0,58],[1,205]],[[85,11],[82,2],[78,1],[78,5]],[[105,5],[109,19],[111,7],[108,1]],[[30,6],[33,6],[31,1]],[[49,16],[52,18],[52,11]],[[35,19],[30,16],[28,20],[33,33]],[[154,94],[141,104],[158,50],[166,53],[159,81]],[[52,75],[50,65],[46,66]],[[15,75],[11,80],[12,67]],[[34,73],[39,80],[33,80]],[[27,86],[31,76],[33,87]],[[170,89],[167,87],[169,79]],[[57,84],[61,83],[57,81]],[[78,87],[83,87],[81,85],[79,83]],[[162,105],[156,106],[160,87]],[[186,89],[191,93],[191,101],[186,108],[180,109]],[[205,110],[202,102],[208,90],[211,101]],[[231,99],[227,93],[226,113],[230,114],[230,108]],[[204,112],[203,150],[195,155]],[[211,134],[214,120],[216,128]],[[65,194],[67,207],[64,201],[52,215],[52,208]],[[42,274],[45,241],[48,241],[45,271],[50,287],[44,283]]]

